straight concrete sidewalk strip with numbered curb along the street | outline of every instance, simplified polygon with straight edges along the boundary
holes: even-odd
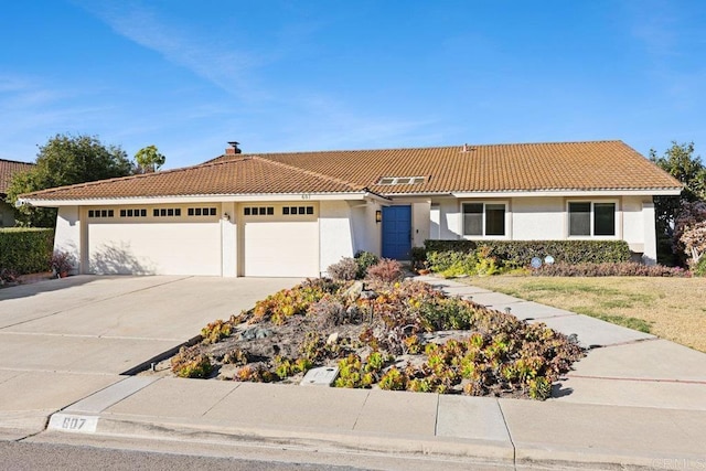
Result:
[[[197,379],[129,377],[50,430],[246,441],[515,465],[706,462],[706,411]]]

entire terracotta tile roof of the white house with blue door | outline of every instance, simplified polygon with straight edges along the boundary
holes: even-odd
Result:
[[[378,184],[384,178],[424,178]],[[678,192],[682,184],[622,141],[226,154],[201,165],[23,195],[89,200],[173,195],[383,195],[537,191]]]

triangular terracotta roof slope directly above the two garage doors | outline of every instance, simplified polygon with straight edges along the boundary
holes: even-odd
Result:
[[[361,192],[360,185],[259,157],[81,183],[22,195],[42,200]]]

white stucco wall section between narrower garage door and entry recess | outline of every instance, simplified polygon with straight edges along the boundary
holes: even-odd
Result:
[[[323,274],[329,265],[341,257],[353,257],[352,211],[345,201],[322,201],[319,206],[319,269]],[[373,220],[374,222],[374,220]]]

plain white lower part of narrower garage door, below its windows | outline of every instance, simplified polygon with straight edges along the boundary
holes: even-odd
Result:
[[[317,221],[246,222],[244,239],[245,276],[319,276]]]

